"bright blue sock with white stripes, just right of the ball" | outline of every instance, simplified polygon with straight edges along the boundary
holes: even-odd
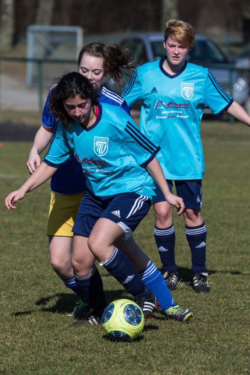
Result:
[[[176,306],[173,297],[169,292],[166,281],[162,274],[157,270],[156,265],[151,261],[150,264],[139,272],[140,278],[148,290],[150,290],[159,301],[160,308],[165,312],[169,307]]]

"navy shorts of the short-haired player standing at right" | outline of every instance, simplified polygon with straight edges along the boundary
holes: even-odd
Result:
[[[169,190],[172,193],[173,181],[166,180],[168,183]],[[175,188],[178,196],[183,198],[185,208],[192,208],[197,210],[201,208],[202,204],[202,180],[175,180]],[[164,202],[166,199],[159,186],[156,185],[154,190],[156,196],[153,197],[153,204],[158,202]]]

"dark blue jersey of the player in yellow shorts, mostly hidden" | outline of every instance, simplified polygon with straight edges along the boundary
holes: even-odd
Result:
[[[51,89],[49,90],[49,94],[55,86],[56,85],[51,87]],[[127,106],[126,101],[114,91],[107,89],[105,86],[102,86],[101,90],[98,92],[98,95],[99,101],[101,103],[108,103],[116,107],[121,107],[124,111],[130,114],[129,107]],[[57,119],[52,113],[49,112],[48,95],[42,113],[42,124],[45,127],[54,127],[56,123]],[[52,191],[60,194],[75,194],[85,190],[85,177],[82,174],[81,166],[76,162],[73,155],[51,177],[50,186]]]

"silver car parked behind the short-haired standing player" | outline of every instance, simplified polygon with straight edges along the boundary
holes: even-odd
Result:
[[[166,55],[162,33],[136,33],[124,37],[119,44],[130,49],[135,57],[137,66],[160,60]],[[249,96],[247,80],[240,77],[235,70],[231,70],[230,77],[230,68],[234,68],[234,64],[210,37],[196,34],[195,44],[189,52],[187,61],[207,67],[223,89],[232,95],[233,99],[240,105],[244,105],[247,102]],[[114,82],[109,81],[105,84],[114,91],[119,91]],[[205,109],[204,112],[209,111]]]

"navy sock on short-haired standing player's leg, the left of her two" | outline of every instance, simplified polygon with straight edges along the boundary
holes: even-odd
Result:
[[[164,271],[177,272],[175,264],[175,230],[174,225],[166,229],[154,226],[154,238],[163,264]]]

